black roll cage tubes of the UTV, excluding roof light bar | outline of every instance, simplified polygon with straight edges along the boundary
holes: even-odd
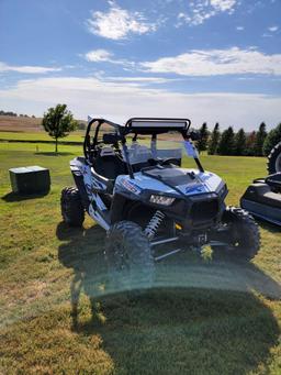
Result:
[[[144,126],[144,128],[137,128],[137,126],[133,126],[133,122],[134,121],[138,121],[138,122],[146,122],[146,123],[150,123],[150,124],[157,124],[157,123],[184,123],[184,126]],[[90,131],[91,131],[91,126],[94,122],[98,122],[98,125],[95,128],[95,132],[94,132],[94,136],[93,136],[93,141],[91,144],[91,139],[90,139]],[[87,131],[86,131],[86,135],[85,135],[85,141],[83,141],[83,154],[85,157],[88,162],[89,157],[91,158],[93,155],[91,155],[93,153],[93,151],[91,148],[94,148],[98,144],[98,135],[99,135],[99,131],[102,124],[108,124],[111,125],[115,129],[115,133],[120,136],[120,141],[122,143],[122,147],[123,147],[123,152],[124,152],[124,156],[125,156],[125,162],[127,165],[127,169],[128,169],[128,174],[131,178],[134,178],[134,173],[133,173],[133,168],[132,165],[130,163],[128,159],[128,152],[127,152],[127,146],[126,146],[126,135],[130,133],[135,133],[135,136],[137,134],[151,134],[151,136],[156,136],[157,134],[161,134],[167,132],[167,130],[172,130],[172,131],[177,131],[179,133],[181,133],[182,137],[184,141],[189,141],[192,139],[192,135],[189,134],[189,129],[191,125],[191,121],[189,119],[171,119],[171,118],[131,118],[127,120],[127,122],[125,123],[125,125],[120,125],[115,122],[102,119],[102,118],[93,118],[88,122],[88,126],[87,126]],[[87,150],[88,148],[88,150]],[[90,155],[89,155],[90,154]],[[204,172],[204,168],[202,166],[202,164],[200,163],[200,159],[198,157],[194,157],[194,161],[196,163],[196,166],[199,168],[200,172]]]

